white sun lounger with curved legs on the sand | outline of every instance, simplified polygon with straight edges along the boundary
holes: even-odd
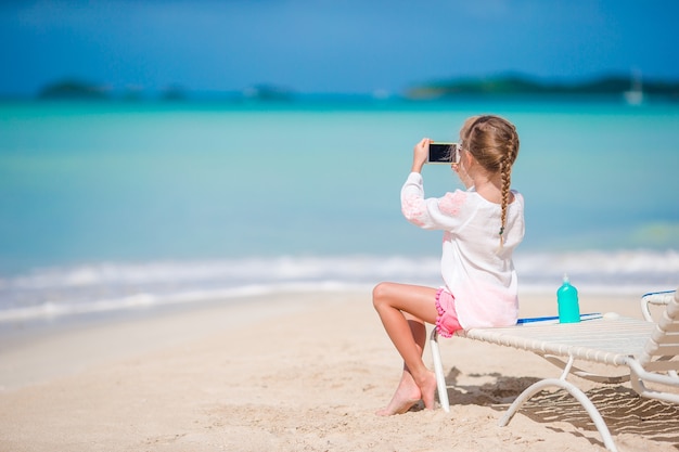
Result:
[[[650,305],[664,305],[657,322],[651,318]],[[616,451],[603,417],[576,385],[566,380],[568,374],[593,382],[631,383],[641,397],[679,403],[679,292],[648,294],[642,297],[645,319],[623,318],[617,314],[584,317],[581,322],[560,324],[558,320],[524,321],[516,326],[501,328],[471,328],[457,336],[490,344],[533,351],[563,367],[559,378],[546,378],[525,389],[500,419],[500,426],[510,423],[514,414],[533,396],[549,387],[571,393],[587,411],[601,434],[604,445]],[[436,330],[430,338],[439,401],[450,410],[440,360]],[[576,361],[608,364],[624,370],[618,375],[592,374],[574,365]]]

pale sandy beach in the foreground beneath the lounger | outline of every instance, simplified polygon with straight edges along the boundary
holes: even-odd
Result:
[[[553,298],[522,295],[522,317],[554,314]],[[641,317],[636,297],[580,305]],[[0,350],[0,451],[604,450],[563,393],[498,426],[523,388],[559,376],[539,357],[463,338],[441,349],[451,412],[380,417],[400,359],[370,288],[216,300],[16,340]],[[679,449],[679,406],[578,385],[620,451]]]

